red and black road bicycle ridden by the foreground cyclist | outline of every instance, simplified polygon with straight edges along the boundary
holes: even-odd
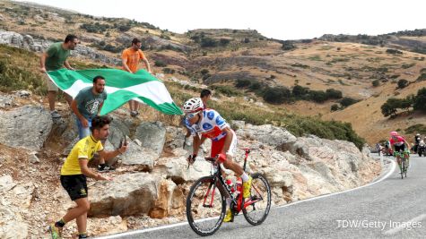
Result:
[[[243,170],[246,171],[248,154],[245,150]],[[221,226],[226,212],[226,199],[230,199],[233,218],[243,212],[249,224],[262,224],[271,208],[271,187],[264,175],[253,174],[250,197],[244,199],[242,184],[236,187],[227,184],[223,173],[227,171],[222,164],[216,165],[215,158],[205,158],[212,163],[211,175],[201,177],[191,186],[187,196],[187,221],[197,235],[213,235]],[[237,179],[240,182],[240,179]]]

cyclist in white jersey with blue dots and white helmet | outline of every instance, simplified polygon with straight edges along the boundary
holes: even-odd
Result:
[[[222,118],[219,113],[210,108],[204,109],[201,98],[190,98],[185,102],[183,110],[186,114],[185,124],[193,136],[193,155],[188,157],[190,163],[194,163],[200,145],[206,138],[212,140],[211,157],[219,155],[218,161],[223,166],[239,175],[243,182],[243,197],[250,197],[251,176],[243,171],[239,164],[232,161],[237,149],[237,135],[230,129],[230,124]],[[198,137],[201,134],[201,139]],[[226,217],[223,222],[230,222],[232,213],[230,211],[230,199],[227,199]]]

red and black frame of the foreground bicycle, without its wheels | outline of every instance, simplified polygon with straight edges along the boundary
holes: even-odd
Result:
[[[244,166],[243,166],[243,170],[246,171],[246,166],[247,166],[247,159],[248,159],[248,154],[250,153],[250,149],[244,149],[245,150],[245,158],[244,158]],[[205,158],[205,160],[211,162],[212,164],[216,161],[217,157],[215,158]],[[216,192],[216,184],[221,184],[221,186],[226,190],[226,192],[228,192],[228,195],[230,196],[230,200],[231,200],[231,208],[234,210],[234,212],[239,212],[241,209],[245,209],[247,208],[249,205],[257,202],[257,201],[261,201],[263,200],[262,197],[257,198],[257,197],[253,197],[248,199],[247,201],[245,201],[243,203],[243,197],[242,197],[242,192],[239,193],[238,197],[235,197],[234,194],[231,192],[230,186],[228,186],[228,184],[225,184],[225,180],[222,176],[222,167],[219,165],[217,166],[217,170],[216,172],[214,172],[213,174],[213,183],[210,184],[207,192],[204,195],[204,202],[203,202],[203,206],[207,207],[207,208],[212,208],[213,207],[213,198],[214,198],[214,193]],[[213,191],[212,191],[212,200],[210,201],[210,203],[208,205],[205,204],[205,201],[207,201],[207,198],[209,198],[209,193],[211,192],[213,187]],[[256,190],[256,192],[258,192],[258,190],[256,189],[256,186],[252,185],[252,188],[254,188]],[[237,189],[238,190],[238,189]],[[242,189],[241,189],[242,191]],[[260,193],[257,193],[260,195]],[[233,206],[233,207],[232,207]]]

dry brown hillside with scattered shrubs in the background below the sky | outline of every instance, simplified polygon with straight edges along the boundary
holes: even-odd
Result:
[[[117,67],[121,50],[132,38],[142,38],[154,72],[165,74],[166,79],[206,84],[218,95],[230,97],[230,102],[245,96],[248,102],[258,102],[273,112],[348,122],[370,144],[386,138],[384,132],[400,128],[404,133],[414,123],[400,126],[380,115],[380,106],[391,96],[415,94],[422,87],[416,80],[426,68],[424,30],[376,37],[325,35],[296,41],[265,38],[256,30],[190,30],[177,34],[148,22],[9,1],[0,1],[0,20],[0,43],[35,52],[68,33],[77,34],[82,40],[72,58],[77,68],[78,61]],[[411,87],[396,90],[400,80],[409,81]],[[296,85],[302,95],[289,91]],[[326,90],[337,90],[340,95],[325,98]],[[274,105],[265,104],[271,101]],[[348,106],[355,102],[352,107],[362,110],[352,113],[354,109]],[[374,117],[363,124],[364,119],[359,119],[363,115]],[[424,119],[419,114],[416,117]]]

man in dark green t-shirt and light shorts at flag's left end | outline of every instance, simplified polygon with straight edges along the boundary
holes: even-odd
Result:
[[[48,107],[50,108],[50,115],[52,118],[60,118],[61,115],[55,109],[55,100],[57,98],[57,85],[48,77],[48,71],[56,71],[65,66],[69,70],[74,70],[68,63],[66,58],[71,54],[71,50],[78,44],[78,38],[74,35],[67,35],[64,42],[57,42],[50,47],[40,56],[40,72],[46,73],[46,83],[48,84]],[[65,99],[68,105],[71,104],[72,98],[65,93]]]

